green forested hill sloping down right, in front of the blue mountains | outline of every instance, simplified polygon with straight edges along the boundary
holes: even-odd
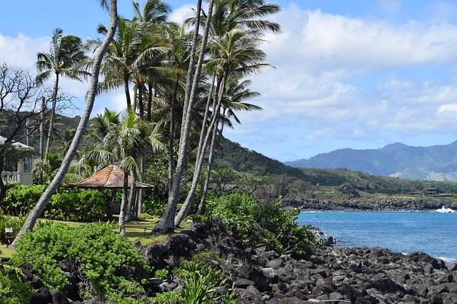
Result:
[[[343,184],[350,184],[358,190],[368,193],[411,193],[428,187],[457,193],[457,183],[455,182],[375,176],[346,168],[293,168],[263,156],[261,153],[243,148],[228,139],[222,141],[221,150],[221,155],[216,161],[218,168],[227,167],[258,176],[262,178],[263,183],[268,183],[271,189],[286,188],[286,193],[281,193],[281,195],[296,196],[299,194],[303,196],[305,193],[306,195],[312,193],[317,185],[338,188]]]

